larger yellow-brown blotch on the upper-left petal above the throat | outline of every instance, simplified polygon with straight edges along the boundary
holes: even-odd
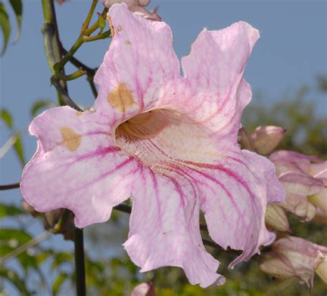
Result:
[[[120,83],[108,96],[108,102],[115,109],[126,112],[134,104],[133,94],[125,83]]]

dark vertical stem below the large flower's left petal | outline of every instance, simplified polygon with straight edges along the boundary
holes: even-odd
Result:
[[[77,296],[86,295],[86,277],[84,263],[84,247],[83,247],[83,230],[75,228],[75,271],[76,271],[76,288]]]

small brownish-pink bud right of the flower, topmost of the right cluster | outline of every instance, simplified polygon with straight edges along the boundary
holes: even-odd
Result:
[[[261,125],[255,129],[251,138],[255,150],[261,155],[268,155],[274,151],[284,137],[286,129],[273,125]]]

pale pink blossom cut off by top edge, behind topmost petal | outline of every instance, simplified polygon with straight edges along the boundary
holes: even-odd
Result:
[[[106,8],[110,8],[115,3],[126,3],[129,10],[135,14],[148,19],[149,21],[161,21],[161,17],[157,14],[158,8],[146,10],[146,6],[150,4],[151,0],[101,0]]]

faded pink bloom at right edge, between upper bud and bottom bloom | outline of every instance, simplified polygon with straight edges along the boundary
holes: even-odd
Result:
[[[317,208],[327,214],[327,161],[284,150],[269,158],[276,165],[277,177],[287,192],[281,207],[305,221],[315,217]]]

